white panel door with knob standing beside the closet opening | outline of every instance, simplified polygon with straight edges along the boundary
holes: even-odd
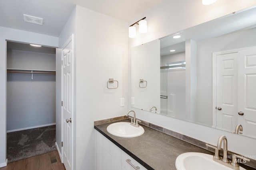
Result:
[[[66,170],[73,169],[73,36],[66,41],[62,48],[62,158]]]

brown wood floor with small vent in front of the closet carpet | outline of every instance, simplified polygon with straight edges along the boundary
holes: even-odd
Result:
[[[58,151],[52,151],[16,162],[8,163],[0,170],[66,170],[60,161]]]

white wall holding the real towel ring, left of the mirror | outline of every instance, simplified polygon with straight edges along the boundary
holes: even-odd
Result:
[[[94,121],[125,115],[127,104],[128,23],[76,6],[60,35],[60,46],[75,34],[74,169],[94,169]],[[118,80],[108,89],[109,78]]]

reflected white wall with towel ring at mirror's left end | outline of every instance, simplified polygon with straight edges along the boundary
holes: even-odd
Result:
[[[160,111],[160,41],[132,48],[132,107]],[[154,107],[154,108],[153,108]]]

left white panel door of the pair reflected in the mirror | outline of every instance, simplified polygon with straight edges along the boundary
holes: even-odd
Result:
[[[238,53],[216,55],[216,128],[234,131],[237,125]]]

